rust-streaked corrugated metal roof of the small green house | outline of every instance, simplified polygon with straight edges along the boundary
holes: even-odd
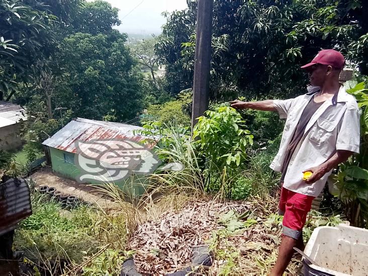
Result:
[[[129,139],[138,143],[142,142],[148,137],[133,134],[134,130],[140,129],[143,128],[123,123],[76,118],[42,144],[75,153],[75,141],[77,140],[87,142],[95,139]],[[149,147],[153,146],[154,144]]]

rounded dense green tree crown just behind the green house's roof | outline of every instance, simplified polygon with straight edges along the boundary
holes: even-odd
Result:
[[[75,117],[101,120],[116,110],[118,121],[137,116],[143,108],[143,77],[133,73],[133,57],[120,34],[76,33],[63,41],[58,70],[67,82],[58,92],[62,107]],[[68,92],[70,91],[70,92]]]

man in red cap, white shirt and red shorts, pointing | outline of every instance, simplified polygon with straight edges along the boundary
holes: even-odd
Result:
[[[339,83],[345,59],[322,50],[302,66],[309,73],[308,93],[289,100],[230,102],[236,109],[277,111],[287,119],[280,149],[270,167],[282,172],[279,214],[284,215],[279,257],[271,274],[283,275],[294,250],[304,250],[302,229],[312,201],[339,163],[359,153],[359,109]],[[312,176],[303,180],[303,172]]]

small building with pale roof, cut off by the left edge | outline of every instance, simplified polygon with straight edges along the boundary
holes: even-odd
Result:
[[[0,101],[0,149],[15,150],[22,147],[20,132],[27,120],[26,111],[19,105]]]

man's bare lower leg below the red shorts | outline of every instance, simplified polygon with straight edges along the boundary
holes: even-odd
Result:
[[[276,261],[276,264],[273,266],[273,269],[270,276],[282,276],[286,267],[289,265],[295,250],[293,247],[298,247],[300,250],[304,250],[303,236],[300,235],[299,239],[294,239],[289,236],[283,236],[281,240],[281,245],[279,249],[279,256]]]

